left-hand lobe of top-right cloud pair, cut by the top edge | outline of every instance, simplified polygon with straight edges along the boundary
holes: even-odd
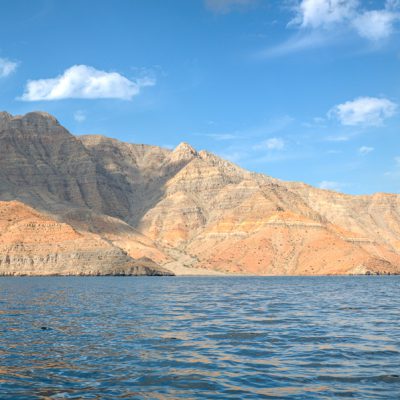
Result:
[[[357,0],[302,0],[292,23],[302,28],[330,28],[354,15]]]

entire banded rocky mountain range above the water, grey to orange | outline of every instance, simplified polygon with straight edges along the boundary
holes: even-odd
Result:
[[[400,272],[399,195],[283,182],[185,143],[75,137],[46,113],[0,113],[0,200],[0,274]]]

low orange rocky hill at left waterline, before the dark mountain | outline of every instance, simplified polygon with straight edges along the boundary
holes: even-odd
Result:
[[[0,202],[0,275],[169,275],[98,235],[20,202]]]

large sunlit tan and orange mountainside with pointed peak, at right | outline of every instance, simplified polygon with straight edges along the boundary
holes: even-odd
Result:
[[[113,146],[125,144],[106,138],[98,139],[101,145],[89,138],[83,138],[83,143],[87,145],[88,140],[99,160],[107,148],[108,165],[138,165],[157,151],[149,147],[143,154],[146,147],[141,147],[140,160],[124,158],[123,151],[113,160]],[[399,271],[396,195],[381,195],[387,203],[378,206],[379,195],[345,196],[281,182],[242,170],[208,152],[197,153],[186,144],[170,153],[162,150],[158,168],[143,165],[142,169],[148,174],[144,182],[152,182],[146,196],[154,198],[155,192],[157,201],[131,223],[165,253],[175,252],[176,257],[179,251],[189,266],[254,274]],[[335,213],[338,203],[342,214],[350,217]],[[386,219],[381,207],[388,214]],[[378,214],[387,223],[380,223]]]

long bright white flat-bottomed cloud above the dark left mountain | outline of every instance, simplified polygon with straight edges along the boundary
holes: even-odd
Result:
[[[56,78],[28,81],[21,97],[24,101],[61,99],[123,99],[131,100],[155,80],[129,80],[117,72],[105,72],[87,65],[74,65]]]

